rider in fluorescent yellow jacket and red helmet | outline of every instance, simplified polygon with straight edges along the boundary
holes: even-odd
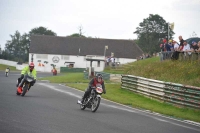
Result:
[[[36,72],[36,70],[34,69],[34,67],[35,67],[34,63],[31,62],[31,63],[29,64],[29,66],[26,66],[26,67],[24,67],[24,68],[22,69],[22,71],[21,71],[21,77],[18,78],[18,82],[17,82],[17,87],[18,87],[18,88],[17,88],[17,91],[18,91],[19,93],[22,93],[22,86],[23,86],[23,83],[21,83],[21,81],[22,81],[22,79],[24,78],[24,75],[31,73],[32,76],[33,76],[33,78],[34,78],[34,81],[32,82],[31,86],[33,86],[33,85],[35,84],[36,78],[37,78],[37,72]],[[19,86],[19,85],[20,85],[20,86]],[[29,88],[29,89],[30,89],[30,88]]]

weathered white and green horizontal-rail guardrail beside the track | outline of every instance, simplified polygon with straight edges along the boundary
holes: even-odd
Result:
[[[200,87],[184,86],[132,75],[122,75],[121,82],[123,89],[170,104],[200,109]]]

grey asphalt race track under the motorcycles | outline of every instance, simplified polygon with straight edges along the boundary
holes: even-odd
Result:
[[[200,125],[102,100],[97,112],[80,110],[82,91],[37,81],[16,95],[19,72],[0,71],[0,133],[199,133]],[[51,76],[38,73],[38,77]]]

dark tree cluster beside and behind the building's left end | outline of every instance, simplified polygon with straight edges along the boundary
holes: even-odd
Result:
[[[16,31],[14,35],[10,35],[11,40],[6,42],[5,50],[2,51],[1,57],[18,62],[28,61],[31,35],[56,36],[56,33],[44,27],[33,28],[29,34],[24,33],[23,35]]]

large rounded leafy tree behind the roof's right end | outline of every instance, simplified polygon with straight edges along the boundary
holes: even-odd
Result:
[[[150,14],[139,24],[134,34],[137,34],[138,45],[144,52],[158,52],[158,44],[168,35],[168,23],[161,16]],[[169,39],[172,39],[173,35],[174,32],[169,28]]]

